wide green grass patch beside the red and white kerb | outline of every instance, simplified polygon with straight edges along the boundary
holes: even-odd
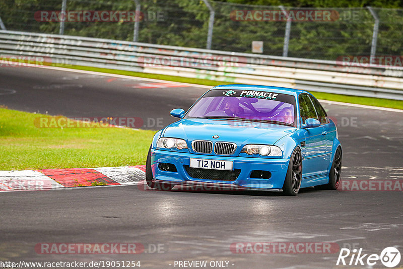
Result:
[[[155,131],[38,128],[33,114],[0,108],[0,170],[142,165]]]

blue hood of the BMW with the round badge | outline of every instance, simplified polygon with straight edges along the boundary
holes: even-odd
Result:
[[[233,142],[237,145],[271,144],[296,130],[295,127],[217,119],[182,119],[168,125],[163,137]],[[219,136],[213,139],[213,136]],[[190,144],[189,144],[190,145]]]

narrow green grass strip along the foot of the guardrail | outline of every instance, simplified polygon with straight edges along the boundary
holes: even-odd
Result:
[[[122,70],[113,70],[113,69],[104,69],[104,68],[92,68],[92,67],[88,67],[88,66],[78,66],[78,65],[74,65],[74,66],[71,65],[71,66],[69,66],[69,68],[109,73],[109,74],[134,76],[134,77],[148,78],[148,79],[159,79],[159,80],[167,80],[167,81],[182,82],[182,83],[208,85],[208,86],[232,84],[230,82],[222,82],[222,81],[214,81],[214,80],[192,79],[192,78],[184,78],[184,77],[177,77],[177,76],[147,74],[147,73],[141,73],[141,72],[122,71]],[[313,92],[313,91],[310,91],[310,92],[317,99],[338,101],[338,102],[345,102],[345,103],[352,103],[352,104],[360,104],[360,105],[370,105],[370,106],[380,106],[380,107],[403,109],[403,101],[398,101],[398,100],[389,100],[389,99],[371,98],[371,97],[359,97],[359,96],[350,96],[350,95],[342,95],[342,94],[321,93],[321,92]]]

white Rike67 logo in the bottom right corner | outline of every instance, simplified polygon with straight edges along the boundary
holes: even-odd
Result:
[[[351,257],[350,257],[351,256]],[[379,261],[386,267],[395,267],[400,262],[400,252],[395,247],[386,247],[381,254],[362,254],[362,248],[352,251],[348,248],[340,250],[336,265],[369,265],[370,267],[378,265]]]

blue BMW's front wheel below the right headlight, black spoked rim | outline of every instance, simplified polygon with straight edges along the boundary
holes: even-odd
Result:
[[[291,155],[290,163],[284,180],[283,193],[295,196],[301,187],[302,181],[302,155],[300,148],[296,148]]]

